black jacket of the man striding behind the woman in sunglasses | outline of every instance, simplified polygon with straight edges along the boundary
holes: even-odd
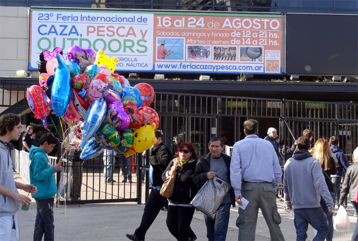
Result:
[[[163,185],[161,174],[168,166],[170,160],[173,158],[169,149],[160,143],[159,146],[154,149],[149,158],[150,164],[153,167],[153,187],[160,187]]]

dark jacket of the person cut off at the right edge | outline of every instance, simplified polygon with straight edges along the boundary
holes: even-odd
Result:
[[[358,182],[358,163],[353,163],[347,168],[342,189],[340,190],[339,204],[342,204],[349,192],[349,201],[354,201],[355,190]]]

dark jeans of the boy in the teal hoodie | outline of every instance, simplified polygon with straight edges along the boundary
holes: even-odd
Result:
[[[43,234],[45,241],[54,240],[53,203],[54,198],[36,200],[34,241],[41,241]]]

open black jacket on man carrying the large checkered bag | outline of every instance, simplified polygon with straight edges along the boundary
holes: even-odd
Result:
[[[226,167],[227,167],[227,173],[228,173],[228,179],[229,179],[229,184],[231,185],[230,182],[230,162],[231,162],[231,157],[229,157],[228,155],[221,153],[222,157],[224,158]],[[193,183],[197,186],[199,186],[199,188],[201,188],[206,181],[208,180],[208,172],[210,171],[210,158],[211,158],[211,154],[208,153],[206,156],[203,156],[199,159],[198,164],[196,166],[194,175],[193,175]],[[231,204],[232,207],[235,207],[235,194],[233,191],[233,188],[231,187],[229,190],[229,194],[230,194],[230,200],[231,200]]]

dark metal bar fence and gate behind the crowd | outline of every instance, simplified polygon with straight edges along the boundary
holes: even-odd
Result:
[[[0,107],[9,107],[7,112],[29,113],[26,89],[30,85],[0,83],[0,94],[2,94]],[[218,136],[227,146],[233,146],[236,141],[245,137],[243,123],[248,118],[255,118],[259,121],[260,137],[265,136],[269,127],[274,127],[278,130],[281,141],[287,145],[293,143],[293,136],[299,137],[306,128],[314,131],[314,140],[339,135],[340,148],[350,162],[352,151],[358,146],[358,105],[353,103],[316,103],[156,92],[150,107],[155,109],[160,116],[158,130],[163,132],[164,143],[173,153],[177,151],[181,142],[191,142],[198,156],[206,155],[208,141],[212,136]],[[25,115],[22,119],[23,124],[32,125],[44,131],[41,121],[31,116],[33,116],[31,112]],[[55,116],[48,117],[51,132],[59,128],[56,118]],[[21,147],[20,143],[21,141],[18,147]],[[149,151],[147,151],[148,155]],[[134,162],[131,164],[131,169],[134,169],[132,172],[134,182],[132,183],[122,183],[121,166],[123,165],[118,162],[119,157],[116,159],[112,166],[113,179],[117,181],[114,185],[105,185],[103,182],[105,165],[102,156],[83,163],[81,197],[77,201],[71,200],[68,191],[70,183],[74,181],[70,178],[71,171],[78,163],[66,164],[65,199],[72,203],[145,202],[143,194],[148,194],[149,182],[146,175],[146,187],[142,184],[143,157],[141,153],[134,156]],[[21,165],[21,160],[19,164]]]

